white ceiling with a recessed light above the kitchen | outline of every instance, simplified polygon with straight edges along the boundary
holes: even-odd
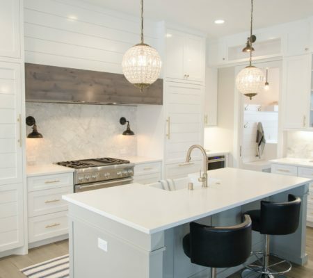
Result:
[[[139,16],[139,0],[85,0],[88,3]],[[220,37],[247,31],[250,0],[145,0],[145,17],[167,20]],[[291,22],[313,15],[313,0],[255,0],[255,28]],[[225,19],[225,24],[214,24]]]

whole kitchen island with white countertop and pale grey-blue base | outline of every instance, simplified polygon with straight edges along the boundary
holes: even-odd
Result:
[[[306,261],[305,218],[310,179],[234,168],[208,172],[216,183],[194,190],[162,190],[132,183],[65,195],[70,204],[70,277],[187,278],[207,269],[190,263],[182,251],[188,222],[235,224],[259,200],[303,200],[296,233],[271,240],[271,252],[299,264]],[[253,250],[262,236],[252,235]],[[240,267],[239,267],[240,268]],[[239,268],[219,270],[227,277]]]

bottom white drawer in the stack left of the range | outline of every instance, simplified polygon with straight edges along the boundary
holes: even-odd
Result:
[[[67,233],[67,211],[29,218],[29,243]]]

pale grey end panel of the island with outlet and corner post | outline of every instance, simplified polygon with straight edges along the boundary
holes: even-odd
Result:
[[[69,217],[71,278],[162,277],[163,232],[143,234],[72,204]]]

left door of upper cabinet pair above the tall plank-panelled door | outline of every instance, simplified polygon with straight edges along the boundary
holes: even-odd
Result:
[[[166,76],[184,79],[184,33],[170,29],[166,33]]]

